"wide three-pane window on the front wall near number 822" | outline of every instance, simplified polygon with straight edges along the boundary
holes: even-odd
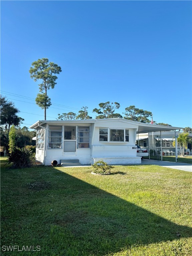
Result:
[[[129,130],[128,129],[99,129],[99,141],[108,142],[128,142]]]

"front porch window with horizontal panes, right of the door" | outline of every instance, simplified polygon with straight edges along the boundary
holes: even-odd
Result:
[[[77,145],[78,148],[90,148],[89,126],[78,126]]]

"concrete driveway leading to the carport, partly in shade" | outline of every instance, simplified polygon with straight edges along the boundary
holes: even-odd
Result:
[[[168,161],[161,161],[161,160],[152,160],[152,159],[142,159],[141,164],[153,164],[164,166],[168,168],[178,169],[182,171],[192,172],[192,164],[186,163],[176,163],[176,162],[168,162]]]

